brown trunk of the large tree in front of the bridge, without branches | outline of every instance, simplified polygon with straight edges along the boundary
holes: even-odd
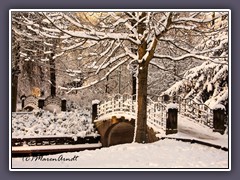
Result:
[[[138,143],[146,143],[147,140],[147,77],[148,63],[139,64],[138,73],[138,109],[137,109],[137,130],[135,141]]]

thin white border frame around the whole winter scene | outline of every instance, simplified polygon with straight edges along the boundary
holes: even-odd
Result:
[[[12,62],[12,33],[11,33],[11,27],[12,27],[12,16],[11,13],[12,12],[37,12],[37,11],[42,11],[42,12],[47,12],[47,11],[51,11],[51,12],[68,12],[68,11],[72,11],[72,12],[77,12],[77,11],[82,11],[82,12],[122,12],[122,11],[176,11],[176,12],[183,12],[183,11],[201,11],[201,12],[218,12],[218,11],[222,11],[222,12],[228,12],[229,14],[229,19],[228,19],[228,44],[229,44],[229,63],[228,63],[228,100],[229,100],[229,113],[228,113],[228,169],[205,169],[205,168],[201,168],[201,169],[185,169],[185,168],[172,168],[172,169],[137,169],[137,168],[131,168],[131,169],[108,169],[108,168],[104,168],[104,169],[71,169],[71,168],[59,168],[59,169],[31,169],[31,168],[26,168],[26,169],[15,169],[12,168],[12,146],[11,146],[11,139],[12,139],[12,127],[11,127],[11,120],[12,120],[12,110],[11,110],[11,104],[12,104],[12,100],[11,100],[11,82],[12,82],[12,76],[11,76],[11,62]],[[231,171],[231,147],[232,147],[232,143],[231,143],[231,10],[230,9],[10,9],[9,10],[9,171]]]

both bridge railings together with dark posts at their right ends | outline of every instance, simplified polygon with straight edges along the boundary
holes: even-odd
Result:
[[[128,116],[127,118],[136,118],[136,98],[131,95],[117,94],[114,97],[101,102],[97,108],[97,119],[107,120],[112,116]],[[168,105],[174,104],[174,111],[169,111]],[[170,108],[172,109],[172,107]],[[219,109],[219,107],[218,107]],[[228,127],[226,112],[224,107],[220,109],[211,109],[205,104],[196,103],[193,99],[182,98],[180,96],[161,96],[158,101],[152,101],[150,98],[147,100],[147,123],[155,129],[162,129],[169,131],[171,126],[173,131],[176,130],[177,114],[180,113],[193,119],[195,122],[207,126],[213,131],[223,133]],[[172,114],[173,113],[173,114]],[[175,124],[175,125],[173,125]],[[170,127],[170,128],[169,128]]]

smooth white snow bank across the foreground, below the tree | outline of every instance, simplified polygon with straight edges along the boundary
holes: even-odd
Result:
[[[58,159],[60,155],[44,158]],[[75,161],[24,161],[13,158],[13,168],[228,168],[228,152],[175,140],[151,144],[123,144],[94,151],[63,153]]]

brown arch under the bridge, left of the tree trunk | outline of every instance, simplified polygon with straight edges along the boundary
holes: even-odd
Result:
[[[108,128],[104,135],[104,146],[131,143],[134,136],[134,126],[130,122],[118,122]]]

